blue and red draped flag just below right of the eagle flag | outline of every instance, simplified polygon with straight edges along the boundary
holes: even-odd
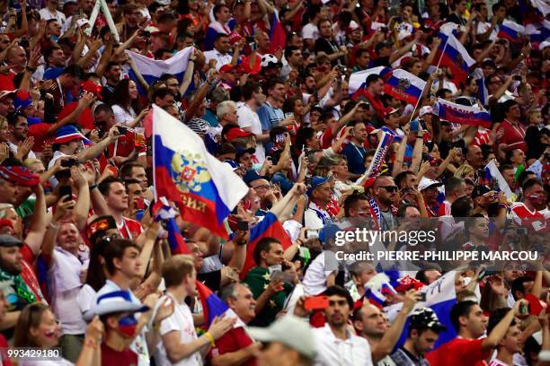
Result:
[[[277,216],[271,212],[263,216],[262,221],[258,222],[258,224],[250,229],[250,239],[246,247],[246,259],[244,260],[243,270],[239,274],[241,280],[244,280],[248,271],[257,266],[256,263],[254,263],[254,248],[256,248],[256,244],[262,238],[269,237],[279,240],[283,250],[292,245],[292,241],[290,241],[287,231],[285,231]]]

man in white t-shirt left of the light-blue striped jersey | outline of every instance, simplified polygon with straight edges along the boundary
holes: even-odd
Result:
[[[262,123],[258,117],[258,110],[265,101],[262,87],[258,83],[245,83],[241,92],[244,103],[237,107],[237,123],[246,132],[252,132],[256,136],[256,159],[260,164],[265,161],[263,142],[269,141],[270,134],[262,134]]]

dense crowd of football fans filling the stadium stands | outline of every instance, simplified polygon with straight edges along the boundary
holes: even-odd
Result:
[[[0,0],[4,365],[25,347],[62,358],[27,354],[22,365],[550,362],[547,2],[98,3],[90,24],[93,0]],[[526,31],[504,38],[503,22]],[[466,80],[440,65],[449,23],[475,60]],[[130,57],[184,48],[184,73],[154,83]],[[350,93],[350,75],[377,66],[427,82],[418,103],[385,93],[379,74]],[[439,117],[438,99],[486,109],[491,126]],[[153,104],[250,188],[226,219],[230,240],[177,215],[190,254],[171,253],[153,209]],[[280,230],[252,243],[262,220]],[[364,222],[437,232],[383,250],[537,258],[400,263],[395,278],[369,260],[328,269],[329,231]],[[452,309],[423,306],[422,289],[448,275]],[[205,317],[198,286],[226,304],[224,317]]]

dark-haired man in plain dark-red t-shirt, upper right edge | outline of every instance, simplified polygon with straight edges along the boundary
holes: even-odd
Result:
[[[521,149],[527,153],[527,144],[525,142],[525,126],[519,123],[521,109],[515,100],[506,100],[502,104],[506,118],[497,129],[496,150],[498,156],[504,159],[506,152],[513,149]]]

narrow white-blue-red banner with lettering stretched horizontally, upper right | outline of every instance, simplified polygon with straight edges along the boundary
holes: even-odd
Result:
[[[480,109],[477,105],[472,107],[463,106],[438,98],[433,105],[433,113],[449,122],[491,128],[491,115],[485,109]]]

